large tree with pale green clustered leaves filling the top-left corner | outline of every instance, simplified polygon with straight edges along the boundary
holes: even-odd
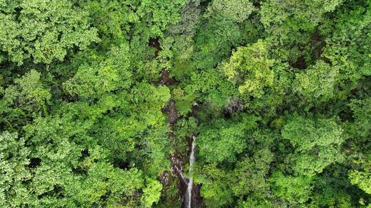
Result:
[[[99,41],[87,12],[70,1],[16,1],[2,3],[0,10],[1,57],[19,65],[30,58],[34,63],[63,61],[74,48]]]

